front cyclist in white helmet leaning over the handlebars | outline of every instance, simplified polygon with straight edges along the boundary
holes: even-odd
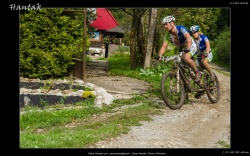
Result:
[[[184,50],[185,54],[183,60],[194,70],[196,73],[195,81],[198,82],[200,80],[201,73],[197,69],[194,60],[191,59],[197,51],[197,46],[195,45],[193,38],[190,36],[188,29],[182,25],[175,25],[175,18],[173,16],[166,16],[162,20],[162,24],[167,32],[159,51],[159,57],[161,58],[163,53],[166,51],[169,42],[178,47],[179,50]]]

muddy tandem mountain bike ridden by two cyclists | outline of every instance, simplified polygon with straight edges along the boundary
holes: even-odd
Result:
[[[197,63],[197,59],[201,56],[196,55],[192,59],[201,71],[201,79],[199,82],[195,82],[193,70],[182,61],[183,54],[184,52],[181,51],[176,55],[160,59],[165,63],[174,61],[173,67],[169,72],[164,73],[161,79],[160,90],[165,104],[171,109],[180,109],[185,99],[188,99],[189,93],[196,93],[199,96],[206,94],[212,103],[217,103],[220,99],[220,84],[216,74],[213,73],[215,78],[214,81],[211,81],[209,72]]]

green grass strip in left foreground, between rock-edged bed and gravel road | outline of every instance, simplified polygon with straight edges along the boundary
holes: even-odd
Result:
[[[161,113],[159,104],[142,96],[117,100],[102,109],[94,107],[93,102],[77,106],[82,107],[27,108],[20,116],[20,147],[87,147],[99,140],[127,134],[130,126],[139,126],[140,121],[150,121],[150,115]],[[117,111],[122,106],[133,107]]]

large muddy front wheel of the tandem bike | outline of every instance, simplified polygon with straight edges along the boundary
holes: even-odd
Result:
[[[165,104],[171,109],[180,109],[185,100],[184,83],[174,72],[165,73],[161,80],[161,95]]]

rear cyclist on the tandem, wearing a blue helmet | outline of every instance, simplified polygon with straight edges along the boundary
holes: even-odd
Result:
[[[212,51],[210,48],[210,42],[206,35],[201,33],[200,26],[193,25],[190,27],[190,33],[194,38],[194,42],[197,45],[197,55],[202,56],[201,59],[198,59],[198,62],[210,73],[210,80],[214,81],[214,74],[212,68],[208,62],[211,62],[213,59]]]

